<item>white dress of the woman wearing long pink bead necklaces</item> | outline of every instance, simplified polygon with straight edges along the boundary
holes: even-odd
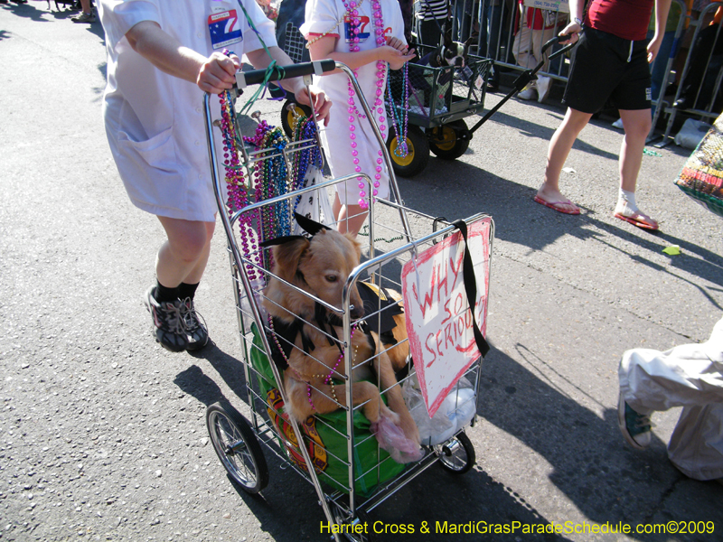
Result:
[[[362,19],[361,30],[359,34],[359,47],[361,51],[374,49],[377,46],[376,33],[374,33],[374,18],[371,8],[372,0],[362,0],[362,5],[357,7],[360,18]],[[385,35],[388,37],[399,38],[402,42],[407,42],[404,38],[404,21],[401,16],[399,2],[396,0],[379,0],[381,5],[381,18],[384,23]],[[358,3],[358,2],[357,2]],[[350,52],[350,43],[346,40],[346,28],[348,24],[338,24],[345,14],[346,8],[342,0],[309,0],[306,2],[306,20],[301,26],[300,31],[307,40],[313,40],[319,34],[333,36],[336,38],[336,46],[334,51]],[[362,87],[364,97],[367,103],[372,107],[376,100],[376,81],[377,66],[376,62],[371,62],[362,66],[358,72],[359,84]],[[329,118],[329,126],[322,130],[322,144],[326,158],[329,162],[329,168],[333,177],[342,177],[355,173],[355,164],[352,156],[352,140],[349,138],[349,112],[347,111],[349,93],[347,88],[346,75],[343,73],[335,73],[333,75],[324,75],[315,78],[315,84],[324,89],[326,96],[332,100],[332,109]],[[386,79],[381,89],[386,90]],[[382,101],[384,96],[382,95]],[[383,105],[381,107],[384,107]],[[357,100],[357,109],[363,114],[361,104]],[[382,113],[381,116],[386,116]],[[374,110],[374,120],[379,124],[380,114]],[[387,126],[386,135],[390,134],[393,128],[390,123],[385,121]],[[354,133],[356,134],[357,148],[359,152],[359,165],[362,167],[362,173],[370,176],[371,182],[374,182],[374,174],[376,173],[377,158],[379,158],[380,145],[374,136],[369,121],[365,119],[355,119]],[[390,193],[389,174],[386,165],[382,165],[379,193],[380,198],[388,198]],[[340,183],[336,185],[336,191],[339,194],[339,200],[343,204],[347,202],[350,205],[357,205],[359,201],[360,188],[356,177],[352,181]],[[364,192],[369,194],[367,188]]]

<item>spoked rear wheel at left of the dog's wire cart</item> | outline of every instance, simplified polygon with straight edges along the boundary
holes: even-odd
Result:
[[[233,408],[219,403],[206,408],[211,443],[231,481],[255,494],[268,485],[268,466],[249,422]]]

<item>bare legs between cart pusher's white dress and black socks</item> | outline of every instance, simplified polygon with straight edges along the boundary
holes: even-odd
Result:
[[[174,288],[182,282],[195,284],[201,280],[211,251],[215,222],[158,217],[168,237],[155,259],[158,282]]]

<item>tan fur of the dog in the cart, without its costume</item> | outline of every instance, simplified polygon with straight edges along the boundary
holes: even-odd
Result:
[[[273,249],[274,275],[271,276],[265,290],[264,306],[268,313],[277,321],[286,325],[295,322],[297,315],[305,322],[315,322],[315,301],[305,294],[313,294],[327,304],[342,308],[343,287],[352,269],[359,264],[361,248],[352,236],[333,229],[322,229],[311,239],[295,238]],[[303,292],[285,284],[295,285]],[[361,318],[364,313],[362,298],[356,285],[352,286],[350,304],[353,304],[352,318]],[[324,312],[325,313],[325,312]],[[395,316],[398,324],[394,336],[400,343],[389,349],[380,345],[380,338],[375,332],[371,336],[376,349],[371,349],[369,336],[357,329],[352,336],[353,370],[352,378],[354,406],[364,404],[362,412],[371,423],[380,420],[380,416],[390,419],[404,432],[409,439],[419,443],[419,432],[402,397],[401,388],[395,377],[395,369],[404,366],[408,356],[408,341],[404,315]],[[324,323],[328,330],[330,324]],[[343,329],[334,327],[337,336],[342,336]],[[326,414],[336,410],[338,406],[332,398],[333,391],[339,403],[349,404],[344,386],[337,385],[332,391],[330,384],[324,383],[326,375],[333,369],[339,359],[340,350],[336,344],[330,344],[327,335],[316,325],[304,323],[302,333],[314,345],[313,350],[303,350],[301,333],[296,336],[296,348],[288,355],[289,368],[284,371],[284,385],[289,405],[287,410],[298,421],[304,421],[313,414]],[[271,348],[277,348],[275,344]],[[375,356],[371,362],[364,364]],[[368,381],[357,381],[367,376],[370,365],[379,375],[380,386],[385,391],[389,406],[380,397],[380,389]],[[340,374],[347,373],[344,359],[336,368]],[[311,384],[311,401],[307,397]],[[316,389],[315,389],[316,388]],[[319,393],[320,390],[322,393]]]

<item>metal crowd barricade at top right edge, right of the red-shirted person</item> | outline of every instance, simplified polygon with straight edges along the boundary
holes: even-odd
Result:
[[[676,0],[678,1],[678,0]],[[715,31],[715,38],[713,42],[711,43],[711,47],[709,51],[696,51],[695,50],[695,44],[699,39],[700,33],[709,27],[709,24],[706,23],[710,20],[709,15],[714,14],[718,8],[723,7],[723,3],[721,2],[713,2],[710,5],[708,5],[701,13],[698,18],[698,20],[690,21],[690,25],[695,27],[695,33],[693,33],[693,39],[690,44],[690,51],[688,52],[688,55],[685,59],[685,65],[683,66],[682,70],[682,77],[680,79],[680,83],[678,85],[678,90],[675,93],[675,98],[673,98],[673,104],[678,101],[679,98],[681,98],[682,91],[685,88],[687,84],[687,79],[690,78],[691,73],[690,67],[691,64],[695,61],[700,61],[702,66],[702,61],[705,61],[705,67],[702,70],[702,75],[700,76],[700,83],[697,85],[697,88],[695,89],[695,98],[693,99],[693,103],[691,104],[693,107],[690,108],[681,108],[681,107],[671,107],[666,104],[666,107],[664,109],[664,113],[667,114],[668,117],[668,123],[665,126],[665,132],[663,134],[663,140],[662,143],[658,146],[668,145],[671,142],[671,130],[673,128],[673,125],[675,123],[676,117],[679,113],[682,113],[686,116],[692,116],[692,117],[700,117],[700,118],[716,118],[720,114],[720,111],[714,110],[716,106],[716,101],[718,98],[718,94],[720,92],[720,83],[721,79],[723,79],[723,54],[719,53],[716,54],[715,51],[718,47],[721,47],[723,45],[723,20],[719,22],[716,26]],[[681,17],[682,20],[682,17]],[[682,23],[682,21],[681,21]],[[681,23],[679,23],[679,30]],[[678,33],[676,33],[676,37],[678,36]],[[673,51],[675,51],[675,46],[673,46]],[[669,61],[669,70],[666,73],[666,79],[663,79],[662,83],[662,89],[661,89],[661,95],[665,91],[665,85],[667,83],[668,78],[671,76],[670,73],[670,67],[671,67],[672,59]],[[702,103],[700,103],[701,98],[705,98],[705,94],[701,95],[701,92],[708,86],[710,88],[710,77],[714,77],[715,81],[712,85],[712,92],[710,93],[709,98],[704,99]],[[659,100],[662,101],[662,100]],[[698,102],[698,103],[696,103]],[[700,106],[700,107],[694,107],[694,106]],[[658,107],[660,109],[661,107]],[[656,110],[656,115],[659,114],[659,111]],[[657,117],[653,118],[653,126],[655,126],[655,121],[657,121]]]

